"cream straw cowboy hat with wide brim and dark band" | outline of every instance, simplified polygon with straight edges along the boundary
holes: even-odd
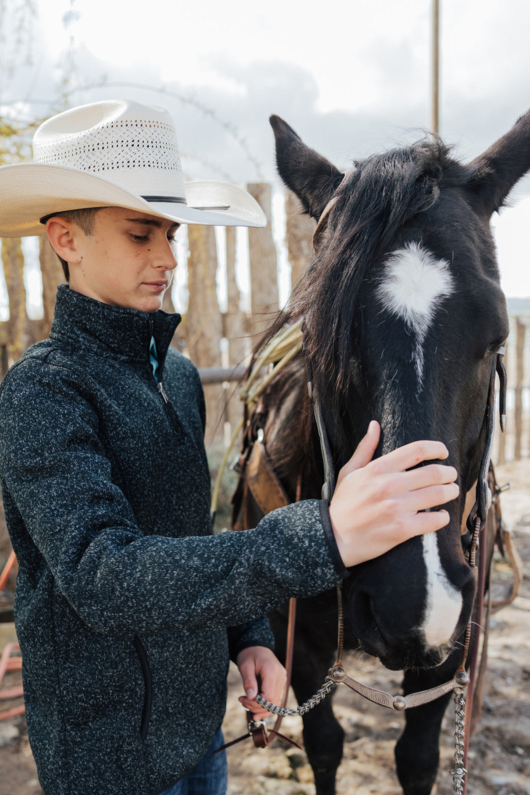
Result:
[[[0,196],[0,237],[43,235],[41,219],[83,207],[126,207],[208,226],[267,223],[242,188],[185,183],[168,111],[124,99],[48,118],[33,137],[33,163],[0,167]]]

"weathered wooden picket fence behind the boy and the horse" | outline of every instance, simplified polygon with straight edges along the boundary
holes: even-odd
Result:
[[[272,192],[268,184],[247,186],[249,192],[272,216]],[[285,247],[288,267],[294,284],[311,256],[311,237],[315,223],[300,212],[300,203],[285,192]],[[242,295],[236,280],[236,233],[227,227],[224,241],[226,259],[226,311],[218,300],[218,245],[213,227],[188,227],[188,308],[172,344],[179,347],[203,373],[207,401],[207,448],[222,447],[241,417],[242,408],[230,396],[237,386],[226,381],[226,369],[241,375],[241,364],[248,359],[253,343],[259,338],[271,314],[279,307],[278,252],[271,223],[263,229],[248,230],[250,271],[250,311],[242,310]],[[29,320],[23,279],[24,255],[21,241],[2,240],[2,266],[9,299],[9,320],[0,322],[0,375],[20,358],[30,344],[48,335],[53,316],[56,286],[64,281],[56,255],[46,238],[40,238],[39,263],[42,277],[42,318]],[[184,263],[180,262],[182,267]],[[164,297],[164,308],[173,311],[171,296]],[[493,460],[519,460],[530,456],[530,344],[527,330],[530,317],[512,317],[507,346],[506,366],[509,375],[508,430],[497,431]],[[222,369],[223,368],[223,369]]]

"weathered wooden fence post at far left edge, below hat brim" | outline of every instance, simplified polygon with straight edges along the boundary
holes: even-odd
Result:
[[[2,265],[10,301],[8,356],[17,362],[31,342],[25,312],[24,254],[20,238],[2,238]]]

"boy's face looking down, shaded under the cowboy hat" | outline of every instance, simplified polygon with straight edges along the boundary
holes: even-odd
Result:
[[[171,283],[178,224],[122,207],[103,207],[92,235],[76,227],[70,288],[103,304],[156,312]]]

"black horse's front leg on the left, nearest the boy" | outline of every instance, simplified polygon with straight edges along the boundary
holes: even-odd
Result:
[[[276,653],[285,655],[287,622],[276,612],[269,615],[277,638]],[[333,664],[335,653],[315,650],[310,638],[297,627],[292,655],[292,689],[298,704],[304,704],[321,688],[327,671]],[[335,795],[335,776],[342,760],[344,730],[333,714],[331,695],[303,716],[304,747],[315,776],[316,795]]]

